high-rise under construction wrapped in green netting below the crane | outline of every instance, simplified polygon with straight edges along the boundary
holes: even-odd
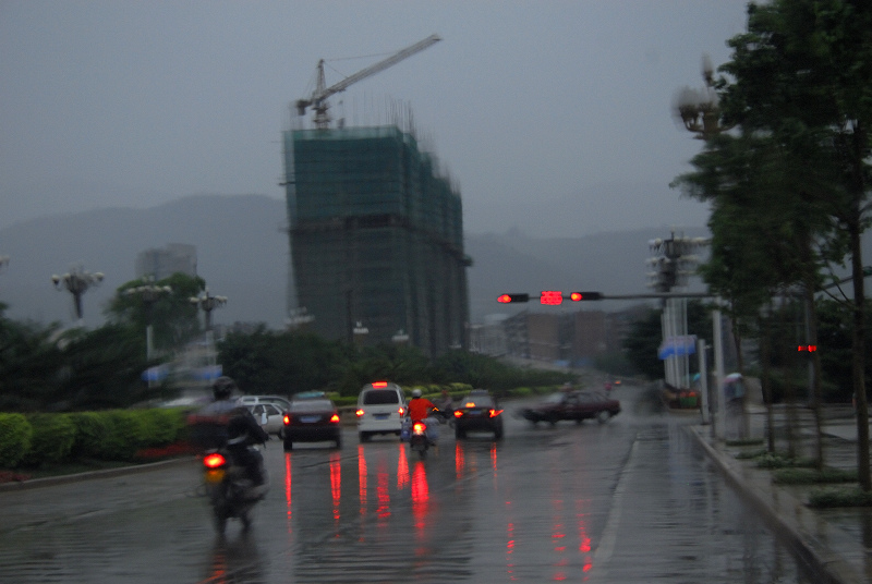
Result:
[[[398,125],[283,137],[289,308],[328,339],[465,348],[462,205],[437,161]]]

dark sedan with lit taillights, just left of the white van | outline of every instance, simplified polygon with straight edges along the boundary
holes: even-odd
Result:
[[[336,442],[342,447],[342,427],[336,404],[324,393],[294,396],[283,416],[284,450],[294,442]]]

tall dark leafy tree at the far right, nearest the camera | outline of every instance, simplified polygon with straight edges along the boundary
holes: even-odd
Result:
[[[872,151],[868,131],[872,122],[872,4],[774,0],[749,4],[748,15],[748,32],[729,40],[732,59],[720,68],[734,80],[718,81],[724,119],[728,125],[738,124],[743,137],[768,143],[773,157],[761,161],[758,177],[774,178],[770,193],[792,197],[780,196],[770,205],[788,218],[785,241],[799,244],[799,281],[807,304],[812,304],[819,290],[811,242],[819,244],[819,258],[850,261],[858,472],[862,488],[872,490],[860,252],[860,235],[868,227]],[[717,144],[706,141],[706,148],[713,147]],[[774,167],[762,162],[774,162]],[[767,185],[765,181],[755,184]],[[813,321],[811,326],[810,342],[814,342]],[[818,364],[815,370],[820,372]],[[818,375],[814,386],[818,404]],[[815,419],[820,430],[820,415]]]

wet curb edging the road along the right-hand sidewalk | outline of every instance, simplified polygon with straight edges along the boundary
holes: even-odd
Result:
[[[763,518],[763,520],[798,552],[806,564],[820,577],[822,584],[852,584],[862,582],[856,570],[844,558],[821,545],[812,535],[806,533],[794,522],[780,515],[761,494],[762,489],[748,484],[731,465],[724,454],[703,438],[699,429],[690,426],[689,431],[697,438],[697,442],[705,450],[727,482],[746,499]],[[773,487],[775,488],[775,487]],[[804,508],[804,503],[787,492],[777,492],[777,498],[789,502],[791,508]]]

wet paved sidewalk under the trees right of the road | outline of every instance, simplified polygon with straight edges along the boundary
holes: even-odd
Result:
[[[778,414],[782,419],[783,414]],[[804,421],[810,415],[808,410],[801,411]],[[751,437],[763,438],[765,411],[754,409],[750,418]],[[850,413],[845,415],[840,410],[827,410],[824,418],[825,463],[834,467],[856,469],[855,418]],[[778,424],[776,418],[776,428]],[[736,458],[749,447],[726,446],[723,440],[713,436],[710,425],[693,425],[689,429],[727,480],[808,562],[820,582],[872,582],[872,509],[811,509],[806,504],[809,494],[826,486],[775,485],[772,482],[772,471],[756,467],[751,460]],[[800,455],[811,454],[814,435],[810,430],[807,424],[800,425]],[[776,437],[778,436],[776,431]],[[780,438],[776,441],[776,448],[780,450]],[[760,447],[752,449],[759,450]]]

